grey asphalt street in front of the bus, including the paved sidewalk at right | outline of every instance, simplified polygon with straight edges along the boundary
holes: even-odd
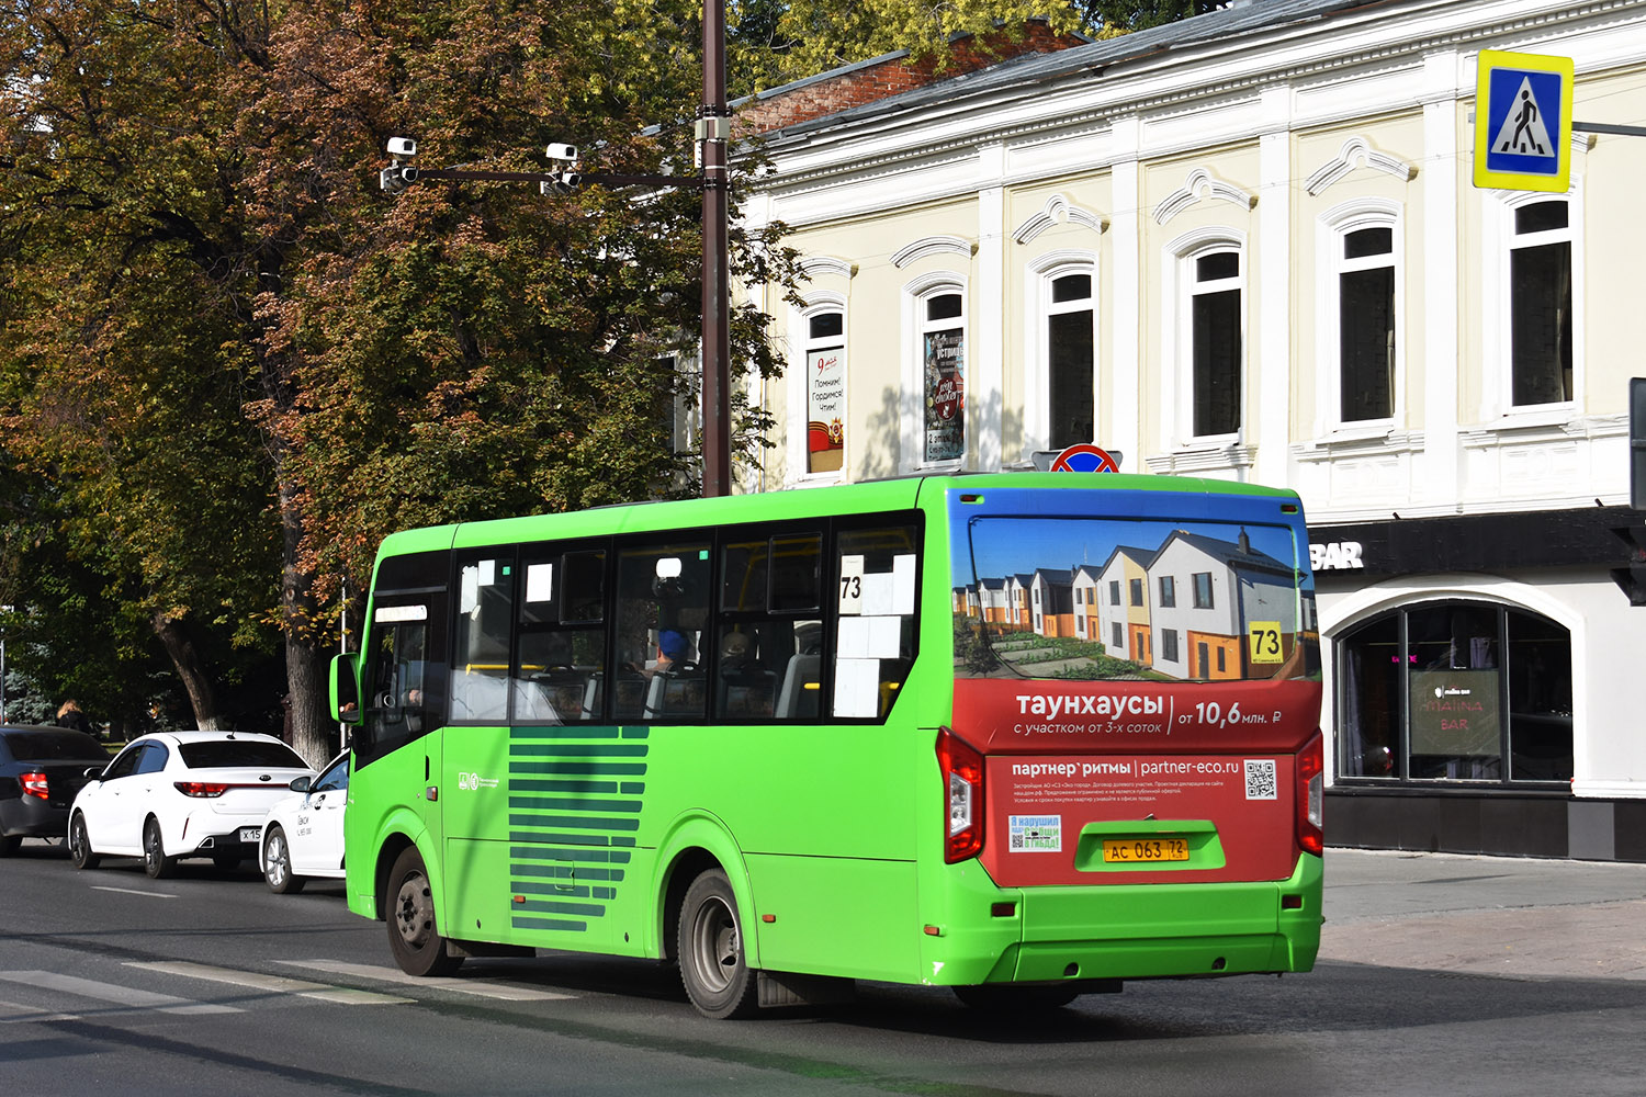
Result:
[[[853,1007],[718,1023],[655,964],[555,954],[400,982],[337,885],[74,872],[26,844],[0,862],[0,1089],[1646,1092],[1646,865],[1330,850],[1327,878],[1309,975],[1129,984],[1007,1018],[871,984]]]

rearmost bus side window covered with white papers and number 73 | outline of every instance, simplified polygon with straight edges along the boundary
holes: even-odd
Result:
[[[841,719],[886,719],[918,635],[920,530],[848,530],[836,538],[835,691]]]

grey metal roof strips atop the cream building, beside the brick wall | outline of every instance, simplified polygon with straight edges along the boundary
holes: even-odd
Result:
[[[800,135],[879,115],[917,110],[920,107],[943,104],[988,90],[1040,84],[1083,71],[1101,72],[1103,69],[1124,61],[1136,61],[1169,53],[1172,49],[1200,46],[1210,41],[1221,43],[1241,35],[1258,35],[1281,26],[1323,20],[1338,12],[1351,12],[1369,7],[1388,7],[1388,0],[1249,0],[1249,3],[1241,3],[1238,7],[1208,12],[1207,15],[1197,15],[1193,18],[1165,23],[1162,26],[1151,26],[1149,30],[1119,35],[1118,38],[1104,38],[1083,46],[1072,46],[1070,49],[1060,49],[1057,53],[1032,53],[1009,58],[999,64],[978,69],[974,72],[965,72],[946,81],[900,92],[897,95],[889,95],[861,107],[851,107],[836,113],[810,118],[807,122],[797,122],[795,125],[777,130],[775,133]],[[843,66],[841,69],[820,72],[815,77],[797,81],[795,84],[788,84],[782,89],[762,92],[762,95],[775,95],[780,90],[793,90],[810,82],[833,79],[853,67],[884,61],[886,58],[872,58],[871,61],[858,62],[858,66]]]

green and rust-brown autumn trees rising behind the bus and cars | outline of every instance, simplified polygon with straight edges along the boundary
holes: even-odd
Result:
[[[729,81],[1027,15],[746,0]],[[430,166],[571,141],[690,174],[700,48],[690,0],[7,0],[0,477],[31,502],[0,515],[0,592],[40,681],[142,707],[165,660],[202,725],[286,697],[319,761],[321,664],[385,533],[693,493],[695,191],[395,199],[377,171],[402,135]],[[779,232],[734,234],[734,278],[793,283]],[[777,372],[764,322],[734,316],[746,373]],[[734,414],[752,456],[769,423]]]

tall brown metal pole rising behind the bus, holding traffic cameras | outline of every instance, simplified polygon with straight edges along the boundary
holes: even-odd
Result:
[[[726,0],[703,3],[703,497],[731,495],[731,303],[726,207]]]

